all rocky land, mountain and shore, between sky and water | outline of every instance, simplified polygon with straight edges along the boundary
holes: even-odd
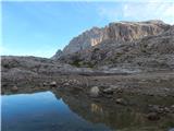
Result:
[[[146,120],[165,122],[174,119],[174,26],[147,21],[94,27],[51,59],[2,56],[1,75],[2,94],[51,90],[67,103],[83,99],[91,106],[97,102],[92,108],[98,111],[98,105],[110,103],[137,110],[137,119],[142,115]],[[70,107],[76,111],[74,105]],[[110,120],[109,107],[102,114],[103,121]]]

